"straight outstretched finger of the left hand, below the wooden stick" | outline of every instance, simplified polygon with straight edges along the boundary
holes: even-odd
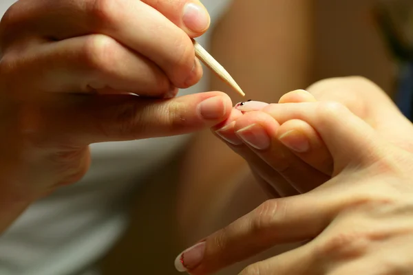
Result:
[[[60,99],[60,98],[59,98]],[[67,96],[43,107],[43,139],[90,144],[180,135],[226,120],[232,102],[221,92],[151,100],[129,95]]]

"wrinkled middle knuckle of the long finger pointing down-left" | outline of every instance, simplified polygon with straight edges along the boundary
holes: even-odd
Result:
[[[260,232],[271,228],[277,219],[282,219],[285,203],[282,199],[271,199],[262,203],[253,213],[252,229]]]

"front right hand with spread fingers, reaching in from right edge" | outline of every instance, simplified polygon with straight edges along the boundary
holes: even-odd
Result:
[[[303,195],[266,201],[183,252],[178,270],[213,274],[273,245],[301,242],[240,274],[412,274],[412,150],[388,142],[337,102],[272,104],[266,113],[313,128],[336,176]],[[400,126],[394,120],[388,131],[412,137],[412,125]]]

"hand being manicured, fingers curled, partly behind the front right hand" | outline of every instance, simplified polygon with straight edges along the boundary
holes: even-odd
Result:
[[[402,148],[413,148],[410,139],[413,133],[405,134],[410,122],[368,80],[358,77],[323,80],[309,87],[308,92],[299,90],[284,95],[279,104],[316,101],[341,102],[386,140]],[[305,122],[281,121],[282,113],[268,113],[267,108],[271,106],[264,102],[245,102],[213,131],[246,159],[271,197],[308,192],[328,181],[334,175],[332,157],[319,135]]]

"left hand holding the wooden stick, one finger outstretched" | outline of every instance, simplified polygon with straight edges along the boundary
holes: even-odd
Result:
[[[78,181],[94,142],[225,120],[225,94],[173,98],[202,76],[190,37],[208,27],[197,0],[12,5],[0,24],[0,193],[9,203],[32,201]]]

